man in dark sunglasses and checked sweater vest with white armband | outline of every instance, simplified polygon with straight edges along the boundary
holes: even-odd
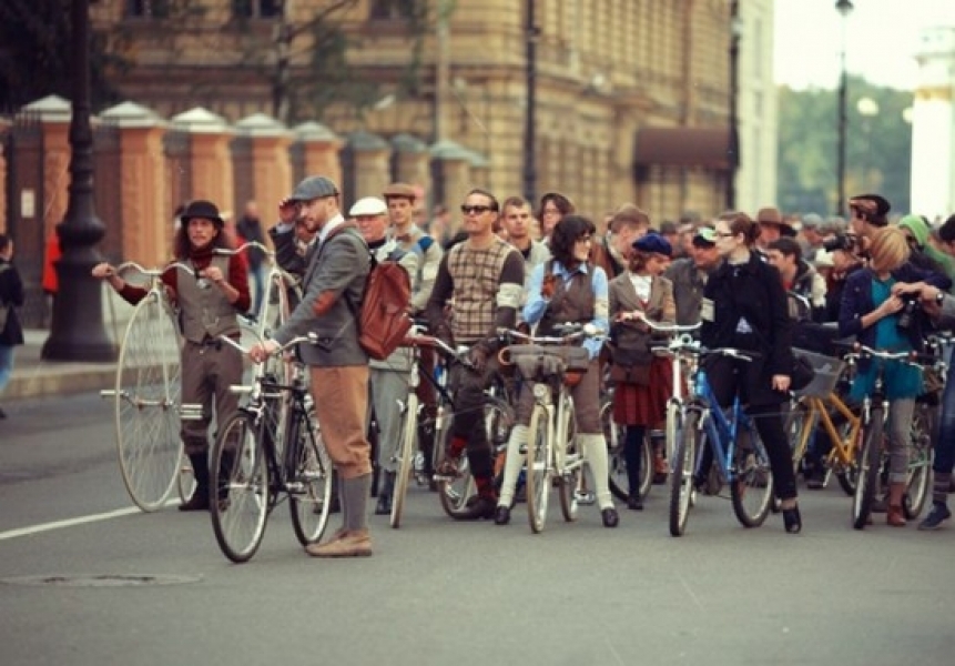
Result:
[[[524,296],[524,258],[494,232],[500,205],[485,190],[471,190],[461,205],[467,239],[441,260],[427,317],[434,333],[470,347],[468,362],[453,366],[455,395],[451,441],[436,476],[454,478],[467,451],[478,494],[468,519],[490,518],[497,507],[494,464],[484,427],[484,389],[497,371],[497,330],[514,329]],[[448,316],[449,306],[454,316]]]

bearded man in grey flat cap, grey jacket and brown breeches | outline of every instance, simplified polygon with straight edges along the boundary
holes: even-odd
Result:
[[[303,180],[282,203],[317,236],[309,248],[302,281],[302,302],[272,340],[250,352],[262,362],[293,337],[315,333],[317,344],[299,345],[309,366],[312,397],[322,438],[338,474],[344,524],[331,541],[305,551],[314,557],[372,554],[366,505],[372,487],[370,444],[365,435],[368,411],[368,355],[358,344],[350,303],[359,303],[370,270],[368,245],[338,209],[338,186],[324,175]],[[283,218],[287,210],[280,211]]]

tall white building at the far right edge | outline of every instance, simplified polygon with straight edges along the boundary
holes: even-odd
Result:
[[[912,211],[955,212],[955,26],[924,28],[912,107]]]

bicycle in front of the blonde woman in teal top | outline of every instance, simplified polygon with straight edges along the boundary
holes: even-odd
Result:
[[[925,357],[925,354],[915,352],[886,352],[863,344],[856,344],[854,351],[846,354],[846,359],[853,362],[861,359],[882,361],[877,364],[872,394],[866,395],[862,401],[862,450],[859,454],[859,476],[852,500],[852,526],[856,529],[863,529],[868,524],[872,505],[878,491],[880,475],[883,467],[887,466],[887,455],[884,455],[886,453],[884,430],[888,413],[888,398],[885,395],[884,385],[885,362],[898,361],[921,367],[918,360]],[[928,362],[934,364],[938,361],[934,355],[929,355]],[[914,418],[913,425],[916,425]],[[922,511],[928,492],[932,466],[931,437],[914,437],[908,445],[908,460],[905,493],[907,500],[903,498],[903,509],[906,517],[915,518]],[[914,501],[910,490],[914,492]],[[906,505],[907,508],[905,508]]]

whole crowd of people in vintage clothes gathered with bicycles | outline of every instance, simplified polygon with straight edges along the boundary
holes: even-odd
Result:
[[[532,406],[530,391],[521,391],[502,481],[496,484],[492,450],[480,418],[485,389],[499,370],[500,329],[521,325],[548,334],[558,323],[575,322],[606,333],[606,339],[580,343],[590,367],[572,395],[578,446],[592,471],[596,502],[608,528],[616,527],[620,516],[608,486],[601,392],[612,382],[613,421],[626,433],[626,505],[640,511],[642,447],[648,445],[648,432],[663,421],[671,390],[670,361],[650,352],[653,335],[647,322],[700,324],[705,346],[755,352],[754,361],[746,363],[712,359],[708,375],[721,406],[738,395],[748,405],[770,457],[784,529],[799,533],[797,474],[805,476],[807,487],[821,487],[821,463],[816,453],[794,472],[783,432],[793,345],[832,353],[835,337],[853,335],[876,349],[918,350],[931,330],[955,321],[955,297],[948,294],[955,275],[955,215],[938,229],[915,215],[891,223],[890,204],[877,194],[850,200],[847,221],[815,214],[793,219],[764,208],[754,216],[735,211],[654,225],[648,212],[631,203],[595,223],[559,192],[546,193],[535,210],[520,196],[501,203],[476,188],[460,204],[457,234],[445,206],[429,224],[423,223],[415,212],[423,203],[419,189],[404,183],[362,196],[348,211],[339,209],[341,202],[336,183],[309,176],[280,203],[278,222],[267,235],[275,260],[301,276],[302,297],[273,339],[250,352],[261,362],[296,335],[318,335],[318,344],[303,349],[301,359],[311,370],[311,391],[337,473],[343,514],[342,527],[329,539],[306,548],[318,557],[372,554],[367,500],[376,468],[375,513],[390,511],[398,404],[407,392],[412,365],[406,350],[369,363],[358,344],[349,301],[362,297],[374,261],[398,261],[413,290],[408,314],[427,322],[434,335],[469,350],[468,362],[455,365],[449,379],[456,411],[446,455],[437,468],[427,457],[425,468],[437,477],[454,476],[466,456],[477,494],[465,517],[497,525],[510,522]],[[216,340],[222,334],[237,336],[240,315],[257,313],[266,294],[255,275],[266,259],[214,255],[214,248],[234,244],[235,234],[227,232],[212,202],[190,203],[179,222],[175,259],[195,271],[167,272],[163,282],[182,312],[183,400],[202,403],[206,414],[213,403],[219,413],[228,412],[235,408],[235,397],[227,385],[238,381],[242,360]],[[253,202],[237,232],[264,240]],[[131,303],[143,295],[109,264],[98,265],[93,274]],[[921,306],[913,312],[907,304],[914,301]],[[903,313],[905,325],[900,321]],[[431,372],[434,359],[423,365],[424,372]],[[871,365],[861,364],[852,397],[872,391]],[[924,384],[917,369],[903,365],[886,371],[886,383],[891,404],[886,522],[903,526],[906,438],[914,400]],[[431,391],[428,382],[419,383],[426,410],[434,404]],[[937,528],[951,515],[955,390],[946,387],[941,405],[933,508],[920,524],[925,529]],[[378,431],[374,461],[368,436],[372,412]],[[209,427],[207,418],[183,423],[199,484],[197,493],[181,506],[184,511],[209,507]],[[697,478],[701,488],[705,465],[704,458]]]

